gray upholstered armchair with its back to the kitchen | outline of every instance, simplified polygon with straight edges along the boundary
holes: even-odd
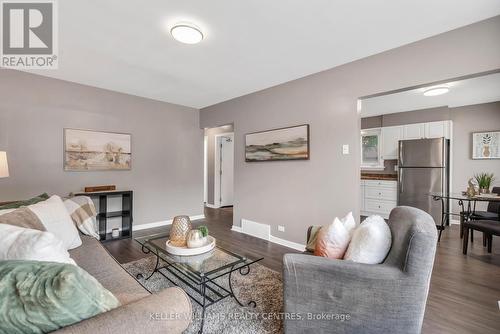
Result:
[[[382,264],[284,256],[285,333],[420,333],[436,252],[434,220],[397,207]]]

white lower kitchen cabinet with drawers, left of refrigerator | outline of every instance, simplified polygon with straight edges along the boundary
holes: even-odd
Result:
[[[380,215],[389,218],[391,210],[397,206],[397,182],[385,180],[361,181],[361,214]]]

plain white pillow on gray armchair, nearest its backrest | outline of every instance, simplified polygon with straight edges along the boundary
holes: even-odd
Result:
[[[370,216],[354,230],[344,260],[368,264],[382,263],[391,245],[391,230],[384,218]]]

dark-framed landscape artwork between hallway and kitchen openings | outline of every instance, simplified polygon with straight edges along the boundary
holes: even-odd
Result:
[[[245,135],[245,161],[309,159],[309,124]]]

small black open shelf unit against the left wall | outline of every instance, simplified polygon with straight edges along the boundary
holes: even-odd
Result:
[[[101,242],[128,239],[132,237],[132,207],[133,207],[133,191],[99,191],[90,193],[78,193],[75,196],[88,196],[90,198],[99,199],[99,212],[97,213],[97,222],[99,224],[99,237]],[[121,211],[108,211],[108,197],[121,196],[122,209]],[[118,238],[113,238],[111,233],[107,233],[108,218],[122,218],[122,229]]]

